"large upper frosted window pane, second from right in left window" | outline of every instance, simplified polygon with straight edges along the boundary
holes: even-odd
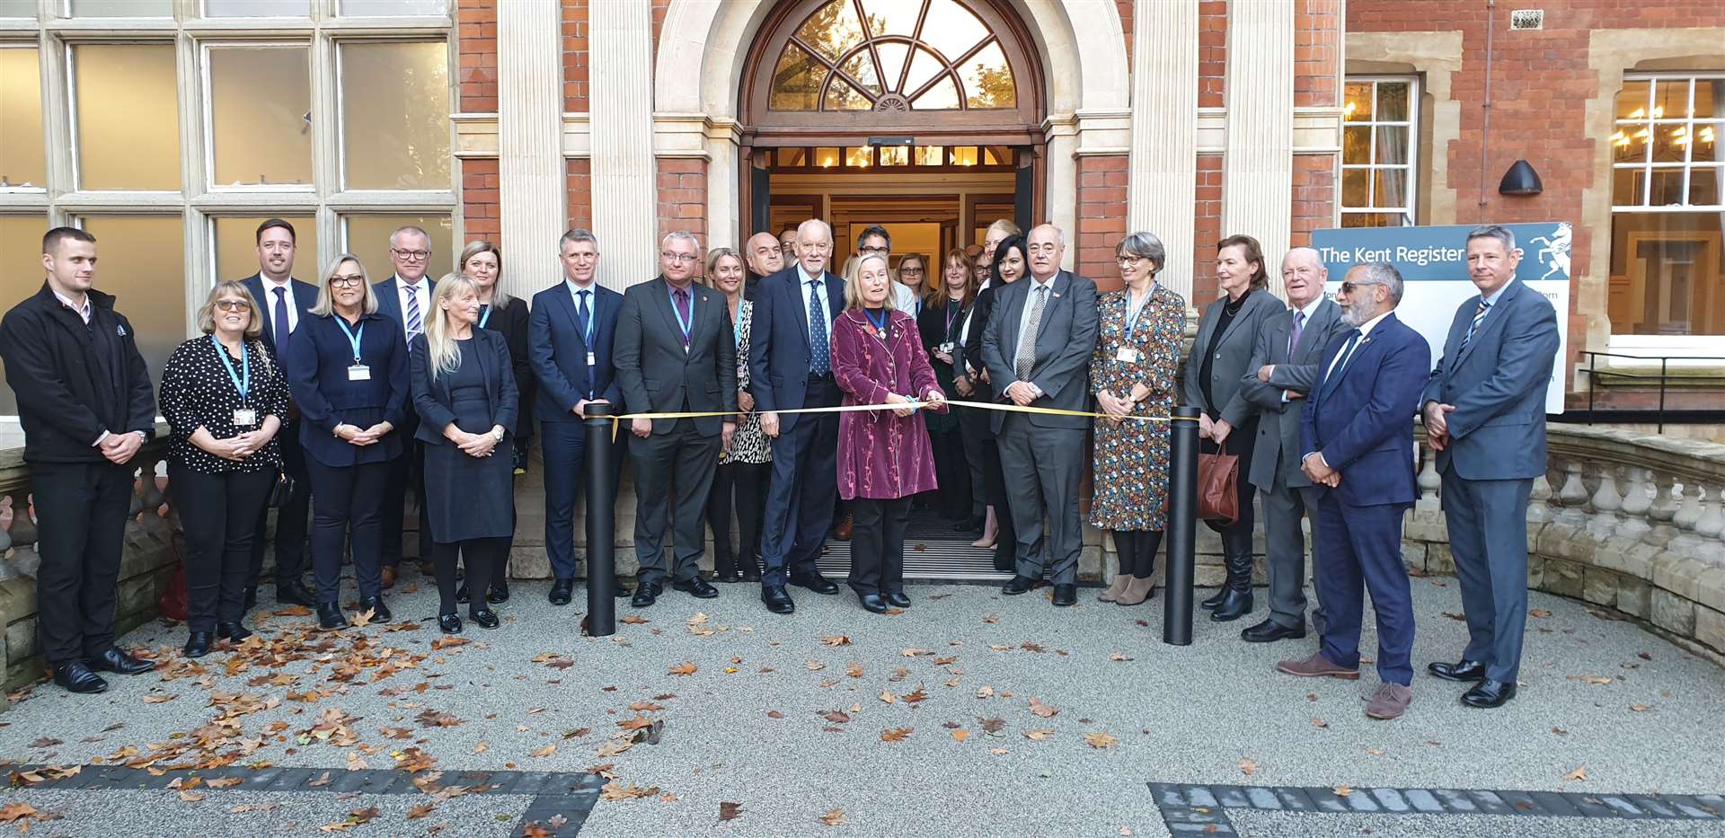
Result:
[[[312,183],[307,59],[304,47],[209,52],[214,186]]]

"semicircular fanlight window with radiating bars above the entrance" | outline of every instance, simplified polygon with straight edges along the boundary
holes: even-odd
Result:
[[[771,110],[1018,107],[1000,40],[957,0],[831,0],[773,69]]]

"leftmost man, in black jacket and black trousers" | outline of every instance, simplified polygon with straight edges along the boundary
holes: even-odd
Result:
[[[34,493],[41,569],[36,602],[53,681],[100,693],[93,669],[155,664],[114,647],[114,588],[138,448],[155,429],[155,393],[131,322],[91,290],[97,240],[76,228],[41,236],[48,278],[0,321],[0,357],[17,395]]]

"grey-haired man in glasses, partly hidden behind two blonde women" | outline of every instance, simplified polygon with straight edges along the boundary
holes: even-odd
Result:
[[[431,264],[431,236],[419,228],[407,226],[390,233],[390,262],[395,274],[376,283],[373,291],[378,297],[378,314],[390,317],[407,336],[412,347],[414,335],[426,331],[426,319],[431,317],[431,293],[436,283],[426,276]],[[424,514],[424,445],[414,438],[419,429],[419,416],[407,410],[402,422],[402,455],[390,462],[390,481],[383,488],[383,586],[395,585],[397,567],[402,564],[402,533],[407,503],[407,486],[414,488],[414,497],[421,498],[421,516]],[[426,550],[424,521],[419,522],[419,545]],[[419,571],[433,574],[430,562],[423,562]]]

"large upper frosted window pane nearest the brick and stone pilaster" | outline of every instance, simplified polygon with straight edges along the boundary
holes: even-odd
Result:
[[[443,41],[342,47],[342,133],[350,190],[448,190]]]

